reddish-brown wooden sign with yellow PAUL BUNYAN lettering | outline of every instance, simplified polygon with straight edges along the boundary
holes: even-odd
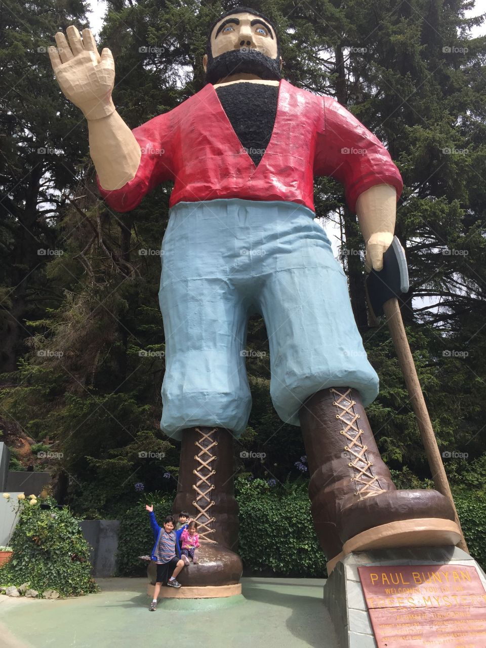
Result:
[[[378,648],[486,647],[486,591],[474,567],[358,567]]]

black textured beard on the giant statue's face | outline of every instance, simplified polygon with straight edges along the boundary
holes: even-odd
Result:
[[[257,75],[261,79],[279,81],[280,58],[270,58],[258,50],[233,49],[216,58],[207,55],[206,83],[216,84],[222,78],[235,74]]]

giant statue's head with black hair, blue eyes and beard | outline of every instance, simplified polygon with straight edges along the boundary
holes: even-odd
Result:
[[[241,75],[279,80],[282,57],[275,29],[268,19],[249,11],[222,17],[211,29],[203,67],[206,82],[212,84]]]

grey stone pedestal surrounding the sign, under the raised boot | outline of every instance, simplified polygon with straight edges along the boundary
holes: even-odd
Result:
[[[469,553],[457,547],[397,548],[349,553],[336,564],[324,586],[340,648],[376,648],[358,573],[359,566],[463,564],[476,568],[486,589],[486,575]]]

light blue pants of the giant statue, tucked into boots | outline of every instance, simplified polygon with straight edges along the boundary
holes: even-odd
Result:
[[[270,395],[279,417],[320,389],[358,389],[369,404],[378,376],[354,322],[347,281],[315,214],[292,202],[239,198],[181,202],[162,242],[159,303],[166,369],[161,429],[244,431],[249,315],[270,343]],[[249,360],[251,362],[251,359]]]

